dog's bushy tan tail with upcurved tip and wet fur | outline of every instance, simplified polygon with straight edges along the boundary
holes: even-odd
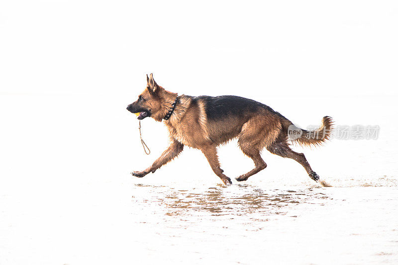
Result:
[[[290,120],[286,120],[283,124],[283,129],[292,141],[301,146],[318,146],[330,139],[333,130],[333,120],[329,116],[324,116],[321,126],[313,131],[300,129],[293,125]]]

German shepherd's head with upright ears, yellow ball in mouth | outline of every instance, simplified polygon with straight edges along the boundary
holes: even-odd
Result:
[[[146,88],[139,94],[137,101],[127,106],[127,110],[132,113],[139,112],[139,120],[152,117],[157,121],[162,121],[168,112],[168,102],[173,102],[177,94],[166,91],[156,84],[152,74],[149,77],[146,75],[146,81]]]

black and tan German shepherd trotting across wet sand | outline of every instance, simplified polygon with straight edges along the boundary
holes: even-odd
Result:
[[[152,117],[164,120],[170,133],[170,146],[144,171],[131,173],[144,177],[176,158],[184,146],[199,149],[206,157],[211,169],[226,185],[231,179],[223,174],[217,157],[217,146],[233,138],[238,138],[242,152],[250,157],[255,168],[236,180],[247,180],[260,172],[267,164],[260,156],[265,147],[272,154],[291,158],[301,164],[308,176],[319,180],[311,169],[304,154],[296,153],[289,146],[289,130],[293,123],[267,105],[240,96],[189,96],[178,95],[165,90],[147,75],[147,86],[137,101],[127,106],[127,110],[138,113],[138,119]],[[290,137],[300,145],[319,145],[328,140],[332,129],[332,119],[325,116],[322,125],[315,131],[298,129],[297,137]],[[310,137],[312,136],[312,137]]]

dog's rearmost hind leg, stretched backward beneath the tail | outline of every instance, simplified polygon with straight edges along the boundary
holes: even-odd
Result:
[[[316,174],[312,169],[311,166],[309,166],[309,163],[307,159],[305,158],[303,153],[297,153],[293,151],[290,147],[289,144],[286,140],[285,137],[279,137],[274,143],[272,143],[270,146],[267,147],[267,150],[270,151],[272,154],[281,156],[281,157],[286,157],[293,159],[300,163],[300,165],[305,169],[307,172],[308,176],[312,178],[313,180],[317,181],[319,180],[318,174]]]

